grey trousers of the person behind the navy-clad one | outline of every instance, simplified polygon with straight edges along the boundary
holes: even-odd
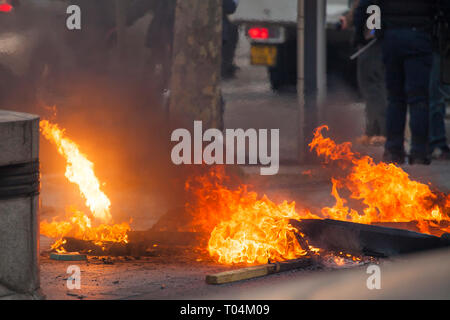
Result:
[[[358,58],[358,86],[366,103],[366,135],[386,136],[387,93],[380,42]]]

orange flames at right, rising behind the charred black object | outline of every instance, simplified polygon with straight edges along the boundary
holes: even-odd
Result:
[[[315,130],[310,143],[311,150],[327,161],[339,161],[350,173],[344,178],[332,179],[332,195],[336,199],[333,208],[323,208],[329,218],[370,224],[373,222],[416,221],[421,232],[429,233],[430,226],[449,221],[449,197],[432,192],[426,184],[413,181],[408,174],[394,164],[376,164],[369,156],[361,156],[351,150],[351,143],[336,144],[322,135],[327,126]],[[350,191],[350,198],[362,201],[366,206],[362,214],[346,206],[347,200],[339,189]],[[441,228],[448,232],[448,228]]]

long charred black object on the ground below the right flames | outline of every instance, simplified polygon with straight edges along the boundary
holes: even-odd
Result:
[[[335,252],[389,257],[450,246],[446,237],[330,219],[291,220],[309,244]]]

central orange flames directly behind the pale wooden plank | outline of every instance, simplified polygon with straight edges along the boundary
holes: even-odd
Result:
[[[306,240],[302,247],[298,231],[289,223],[290,219],[316,216],[308,211],[298,214],[294,202],[277,205],[266,196],[259,199],[244,185],[231,190],[225,182],[223,168],[217,167],[186,185],[195,195],[195,203],[187,209],[200,229],[212,230],[208,251],[219,263],[267,263],[317,251],[306,247]]]

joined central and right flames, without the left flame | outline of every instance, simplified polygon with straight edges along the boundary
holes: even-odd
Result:
[[[296,209],[294,202],[275,204],[266,196],[258,197],[245,185],[235,189],[227,187],[222,168],[214,168],[186,184],[194,195],[187,210],[195,226],[210,233],[208,251],[216,261],[267,263],[320,251],[308,245],[301,230],[289,223],[290,219],[331,218],[364,224],[415,222],[424,233],[429,233],[430,227],[438,228],[441,233],[449,231],[441,224],[450,220],[449,196],[411,180],[394,164],[376,164],[372,158],[353,152],[350,143],[336,144],[323,137],[326,128],[322,126],[315,131],[311,150],[327,161],[337,161],[342,172],[349,173],[332,179],[336,205],[323,208],[320,217],[307,209]],[[346,206],[348,201],[339,194],[342,188],[350,191],[351,199],[362,202],[365,206],[362,213]]]

